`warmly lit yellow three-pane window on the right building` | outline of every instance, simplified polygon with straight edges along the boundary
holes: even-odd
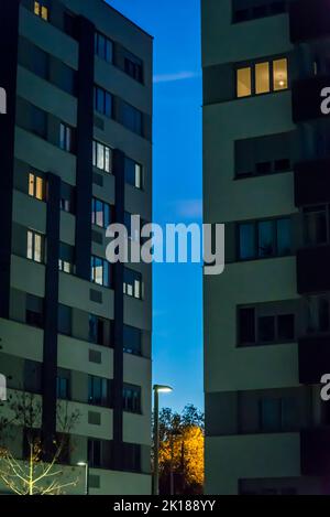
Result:
[[[268,94],[288,88],[287,58],[255,63],[237,69],[237,96]]]

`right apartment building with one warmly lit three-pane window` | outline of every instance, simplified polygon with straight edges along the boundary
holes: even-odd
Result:
[[[201,7],[206,493],[329,494],[329,2]]]

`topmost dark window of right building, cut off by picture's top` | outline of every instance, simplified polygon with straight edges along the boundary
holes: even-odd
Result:
[[[274,17],[288,11],[290,0],[260,1],[234,0],[233,23],[242,23],[264,17]]]

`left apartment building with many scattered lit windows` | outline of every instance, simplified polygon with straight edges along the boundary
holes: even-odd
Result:
[[[152,217],[152,50],[102,0],[1,2],[0,373],[43,435],[78,412],[63,468],[95,495],[151,493],[151,268],[106,228]]]

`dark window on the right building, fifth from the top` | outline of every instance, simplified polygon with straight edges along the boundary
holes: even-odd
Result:
[[[296,340],[296,316],[284,305],[261,304],[240,308],[238,333],[240,346],[290,343]]]

